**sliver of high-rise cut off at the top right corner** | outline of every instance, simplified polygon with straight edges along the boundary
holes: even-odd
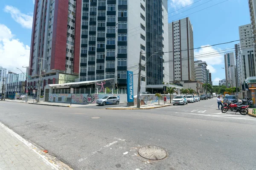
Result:
[[[250,20],[251,20],[251,30],[254,44],[256,43],[256,0],[248,0]]]

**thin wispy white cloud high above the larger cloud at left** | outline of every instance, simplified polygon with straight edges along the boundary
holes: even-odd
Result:
[[[12,18],[23,28],[32,28],[33,15],[23,14],[14,6],[5,6],[4,11],[11,14]]]

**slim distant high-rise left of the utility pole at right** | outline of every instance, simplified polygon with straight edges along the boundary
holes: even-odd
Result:
[[[225,75],[227,80],[227,87],[231,87],[230,82],[235,82],[235,79],[230,79],[232,76],[231,72],[235,73],[234,69],[236,67],[234,53],[227,53],[224,55],[225,60]]]

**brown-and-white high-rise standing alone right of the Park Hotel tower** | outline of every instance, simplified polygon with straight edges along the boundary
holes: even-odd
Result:
[[[195,80],[193,27],[189,17],[169,23],[170,82]]]

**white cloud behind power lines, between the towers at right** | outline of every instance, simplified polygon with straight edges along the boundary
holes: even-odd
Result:
[[[205,47],[209,45],[202,45],[201,47]],[[224,57],[223,54],[220,54],[218,52],[218,49],[215,49],[213,47],[205,47],[200,48],[199,50],[194,51],[194,56],[196,60],[203,60],[207,62],[207,68],[211,73],[215,73],[216,69],[214,68],[214,65],[220,65],[224,63]]]

